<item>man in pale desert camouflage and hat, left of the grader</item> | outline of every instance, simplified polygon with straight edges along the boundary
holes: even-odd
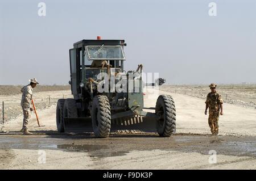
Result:
[[[22,106],[23,110],[23,128],[21,132],[23,134],[29,135],[32,134],[28,131],[28,120],[30,119],[31,113],[30,111],[33,111],[31,101],[32,101],[32,95],[33,95],[33,88],[36,87],[36,85],[39,84],[35,78],[30,79],[30,84],[27,86],[24,86],[20,91],[22,92],[22,100],[20,105]]]

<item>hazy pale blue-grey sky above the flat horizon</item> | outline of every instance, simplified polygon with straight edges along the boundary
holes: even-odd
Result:
[[[141,63],[168,83],[256,83],[254,0],[0,0],[0,85],[67,84],[69,49],[96,36],[125,39],[125,69]]]

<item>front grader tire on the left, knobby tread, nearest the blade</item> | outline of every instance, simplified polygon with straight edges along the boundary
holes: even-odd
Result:
[[[108,137],[111,127],[111,112],[107,96],[97,95],[94,97],[91,116],[95,136],[98,138]]]

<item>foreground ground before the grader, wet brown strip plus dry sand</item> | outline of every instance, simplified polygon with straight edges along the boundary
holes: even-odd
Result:
[[[0,169],[256,169],[255,137],[248,136],[51,135],[0,140]]]

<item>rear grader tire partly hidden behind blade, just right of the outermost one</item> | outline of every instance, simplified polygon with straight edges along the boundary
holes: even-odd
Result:
[[[77,107],[76,107],[76,100],[75,99],[65,99],[64,106],[63,106],[63,118],[77,118]],[[64,123],[64,131],[67,130],[68,125]]]

